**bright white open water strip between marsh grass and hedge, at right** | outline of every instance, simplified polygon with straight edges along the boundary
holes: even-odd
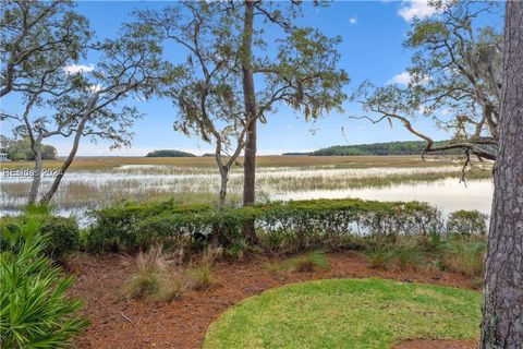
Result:
[[[388,188],[348,190],[314,190],[276,194],[272,200],[309,200],[358,197],[377,201],[422,201],[437,206],[447,216],[458,209],[477,209],[490,215],[494,183],[491,180],[471,180],[464,183],[449,178],[430,183],[396,184]]]

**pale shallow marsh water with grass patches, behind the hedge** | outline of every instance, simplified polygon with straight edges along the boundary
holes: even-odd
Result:
[[[260,167],[259,201],[360,197],[377,201],[422,201],[436,205],[443,216],[458,209],[490,214],[491,179],[460,181],[458,166],[338,168],[336,166]],[[25,203],[29,177],[0,172],[1,212],[17,210]],[[178,194],[212,200],[219,189],[214,168],[163,165],[124,165],[109,170],[71,171],[63,178],[54,204],[63,214],[120,200],[169,197]],[[229,179],[230,197],[242,192],[241,168]],[[42,178],[41,192],[52,178]],[[198,200],[198,198],[196,198]]]

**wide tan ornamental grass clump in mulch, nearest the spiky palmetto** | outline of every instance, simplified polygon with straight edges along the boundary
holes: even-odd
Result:
[[[135,264],[136,274],[122,287],[122,292],[127,298],[165,302],[182,294],[184,282],[169,267],[160,248],[151,248],[148,253],[141,252]]]

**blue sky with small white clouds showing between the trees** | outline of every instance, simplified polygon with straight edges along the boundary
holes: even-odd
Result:
[[[160,9],[168,1],[81,1],[77,11],[90,22],[98,38],[113,37],[120,24],[130,21],[134,9]],[[314,8],[307,3],[299,24],[319,28],[328,36],[341,35],[342,44],[339,67],[344,69],[351,83],[346,93],[357,87],[364,80],[377,85],[390,81],[405,82],[405,68],[410,63],[411,52],[402,47],[409,20],[413,15],[430,15],[425,1],[338,1],[329,8]],[[82,62],[92,64],[89,60]],[[2,100],[3,108],[15,107],[15,98]],[[416,140],[400,124],[391,129],[388,123],[372,124],[364,120],[348,120],[349,115],[361,113],[356,104],[344,105],[345,113],[331,113],[312,123],[303,121],[301,115],[288,108],[280,108],[268,116],[268,123],[258,127],[258,154],[281,154],[282,152],[312,151],[339,144],[361,144],[388,141]],[[109,151],[108,144],[93,144],[85,140],[78,155],[145,155],[160,148],[173,148],[207,153],[211,145],[197,137],[186,137],[173,131],[175,111],[169,100],[153,99],[139,105],[146,115],[134,127],[134,141],[131,148]],[[434,129],[427,121],[421,121],[418,128],[435,139],[445,139],[446,134]],[[2,122],[2,134],[10,135],[10,125]],[[342,131],[343,130],[343,131]],[[53,139],[47,142],[54,145],[59,155],[65,155],[70,142]]]

